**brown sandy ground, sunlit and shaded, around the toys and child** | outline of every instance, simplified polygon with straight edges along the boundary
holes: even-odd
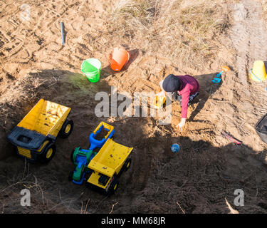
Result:
[[[173,66],[168,58],[127,43],[130,63],[115,73],[107,53],[120,41],[101,36],[107,26],[103,12],[110,7],[103,2],[29,1],[30,21],[20,19],[24,2],[0,2],[1,101],[12,100],[10,90],[15,94],[22,82],[38,83],[38,93],[31,93],[34,98],[11,106],[16,115],[1,115],[0,211],[2,207],[4,213],[109,213],[111,209],[113,213],[229,213],[227,200],[240,213],[266,213],[267,147],[253,128],[266,113],[266,85],[251,81],[247,73],[253,61],[266,61],[261,5],[253,0],[228,5],[232,26],[221,37],[224,45],[216,61],[201,69]],[[68,32],[64,47],[60,21]],[[88,56],[103,63],[99,83],[89,83],[79,71]],[[225,64],[232,71],[223,74],[222,83],[212,83]],[[158,125],[158,118],[150,117],[95,117],[96,92],[110,93],[110,86],[117,86],[118,93],[159,90],[159,81],[169,73],[191,74],[201,86],[182,133],[175,128],[180,117],[177,103],[172,104],[171,125]],[[42,81],[46,83],[40,85]],[[75,128],[68,139],[58,138],[57,153],[48,165],[33,165],[14,155],[6,134],[41,97],[71,107]],[[4,108],[9,106],[6,102]],[[135,147],[132,167],[111,197],[68,182],[71,150],[88,147],[88,135],[101,120],[115,127],[116,142]],[[222,138],[221,130],[243,144]],[[182,150],[172,153],[172,143]],[[32,192],[31,207],[19,204],[19,192],[25,187]],[[236,189],[245,192],[244,207],[234,206]]]

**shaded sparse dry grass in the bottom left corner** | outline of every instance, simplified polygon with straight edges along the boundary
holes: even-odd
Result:
[[[25,169],[28,162],[25,163]],[[56,192],[51,195],[48,189],[53,187],[53,183],[47,182],[43,177],[36,177],[31,172],[23,175],[14,174],[13,176],[4,177],[0,175],[1,182],[4,185],[0,187],[0,214],[15,213],[55,213],[57,210],[63,213],[78,213],[78,209],[73,209],[70,205],[78,202],[78,197],[61,197],[61,191],[58,195]],[[31,206],[22,207],[21,190],[27,189],[31,194]],[[89,202],[89,200],[88,200]],[[88,204],[86,204],[83,213],[87,213]]]

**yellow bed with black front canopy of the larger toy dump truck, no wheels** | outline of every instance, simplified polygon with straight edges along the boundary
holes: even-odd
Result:
[[[18,147],[38,150],[47,138],[56,140],[69,113],[70,108],[41,99],[11,130],[8,140]]]

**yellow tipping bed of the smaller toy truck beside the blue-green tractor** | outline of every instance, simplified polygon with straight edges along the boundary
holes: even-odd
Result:
[[[108,139],[98,154],[90,161],[88,167],[108,177],[112,177],[115,172],[120,172],[122,165],[130,155],[130,152],[132,152],[132,149],[133,147],[125,147]]]

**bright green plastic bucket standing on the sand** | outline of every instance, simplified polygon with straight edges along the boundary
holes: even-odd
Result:
[[[96,83],[100,78],[101,62],[97,58],[88,58],[83,61],[81,71],[91,83]]]

